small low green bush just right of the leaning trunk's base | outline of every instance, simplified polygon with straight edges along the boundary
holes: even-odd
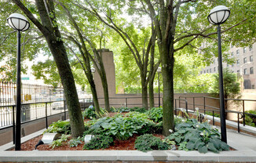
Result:
[[[98,150],[108,148],[114,142],[110,136],[97,135],[94,136],[90,143],[86,143],[83,147],[84,150]]]

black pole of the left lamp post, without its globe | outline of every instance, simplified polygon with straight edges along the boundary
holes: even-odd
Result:
[[[15,150],[20,150],[20,31],[17,31],[17,58],[16,58],[16,136]]]

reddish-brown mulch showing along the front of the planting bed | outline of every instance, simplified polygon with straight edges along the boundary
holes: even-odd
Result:
[[[159,134],[153,134],[154,136],[160,137],[161,139],[164,138],[163,135]],[[138,135],[133,135],[133,137],[130,137],[130,139],[124,140],[124,141],[114,141],[114,145],[107,148],[107,149],[101,149],[101,150],[136,150],[134,148],[134,142]],[[21,150],[35,150],[35,145],[38,143],[38,141],[42,139],[42,136],[35,137],[34,139],[30,139],[25,143],[21,144]],[[61,147],[55,147],[52,149],[52,147],[49,147],[49,144],[42,144],[37,147],[37,150],[82,150],[84,143],[79,144],[78,147],[69,147],[68,143],[64,143]]]

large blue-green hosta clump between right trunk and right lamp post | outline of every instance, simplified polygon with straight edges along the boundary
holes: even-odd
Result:
[[[214,129],[207,122],[199,123],[196,119],[187,119],[177,124],[175,130],[177,132],[167,136],[166,141],[174,141],[178,150],[199,150],[200,153],[207,153],[208,150],[214,153],[229,150],[229,146],[221,142],[218,129]]]

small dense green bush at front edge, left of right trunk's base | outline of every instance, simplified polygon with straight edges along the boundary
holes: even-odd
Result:
[[[155,137],[152,134],[144,134],[138,136],[135,140],[135,148],[146,152],[148,150],[168,150],[169,145],[163,143],[159,137]]]

